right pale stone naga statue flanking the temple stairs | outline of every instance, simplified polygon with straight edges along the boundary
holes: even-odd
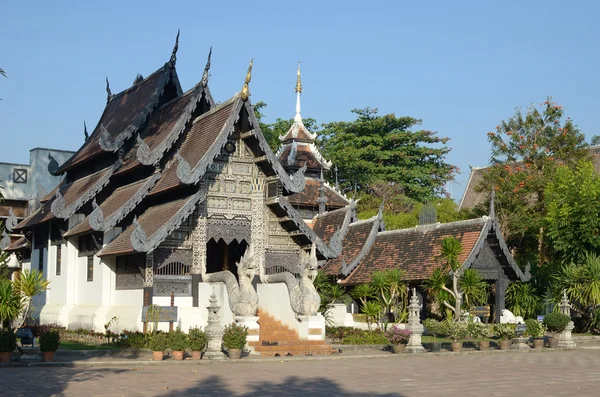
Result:
[[[289,272],[266,275],[263,269],[261,269],[260,280],[263,283],[285,283],[290,294],[292,310],[296,313],[296,317],[314,316],[321,306],[321,297],[314,284],[317,269],[317,251],[315,244],[313,244],[310,254],[300,251],[299,280]]]

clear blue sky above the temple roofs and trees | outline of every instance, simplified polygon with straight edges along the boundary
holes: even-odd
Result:
[[[486,133],[515,107],[551,95],[588,140],[600,134],[600,6],[594,1],[34,1],[0,14],[0,161],[33,147],[76,150],[113,93],[170,56],[187,90],[213,46],[210,88],[239,91],[254,58],[252,101],[267,121],[294,115],[302,62],[304,117],[349,120],[370,106],[451,138],[448,161],[489,159]]]

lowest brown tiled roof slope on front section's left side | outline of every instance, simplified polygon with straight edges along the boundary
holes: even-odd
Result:
[[[175,216],[189,199],[189,197],[186,197],[170,201],[165,204],[155,205],[144,211],[138,221],[146,233],[146,237],[148,237],[148,239],[152,238],[152,235]],[[131,246],[130,240],[131,233],[133,233],[134,229],[134,226],[130,225],[125,231],[117,236],[117,238],[108,243],[102,251],[98,253],[98,256],[124,255],[135,252]]]

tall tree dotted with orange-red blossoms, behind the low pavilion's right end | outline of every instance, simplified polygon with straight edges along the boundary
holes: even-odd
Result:
[[[496,190],[496,216],[520,262],[547,262],[543,254],[546,186],[559,164],[573,168],[588,156],[584,135],[562,106],[548,98],[489,132],[491,167],[478,190]]]

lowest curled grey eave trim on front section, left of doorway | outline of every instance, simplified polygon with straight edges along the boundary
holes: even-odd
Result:
[[[207,191],[204,189],[198,190],[190,199],[181,207],[179,211],[163,226],[160,227],[152,236],[148,237],[146,232],[140,225],[137,218],[133,220],[134,230],[129,237],[131,246],[138,252],[149,252],[159,246],[175,229],[177,229],[181,222],[183,222],[188,216],[194,212],[196,205],[203,202],[206,199]]]

